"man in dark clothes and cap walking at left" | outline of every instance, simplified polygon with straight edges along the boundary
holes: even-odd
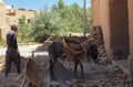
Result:
[[[11,69],[12,63],[17,67],[17,73],[21,73],[21,58],[18,51],[18,44],[17,44],[17,32],[18,28],[17,25],[11,25],[11,31],[7,33],[7,51],[6,51],[6,70],[4,75],[8,76],[8,73]]]

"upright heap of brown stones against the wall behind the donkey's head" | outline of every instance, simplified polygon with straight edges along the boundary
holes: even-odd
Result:
[[[90,32],[90,39],[98,45],[100,62],[105,63],[105,64],[111,63],[111,61],[108,58],[108,54],[105,52],[102,28],[99,25],[93,26]]]

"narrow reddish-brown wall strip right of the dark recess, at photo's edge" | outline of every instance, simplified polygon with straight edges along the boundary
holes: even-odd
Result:
[[[130,34],[130,53],[133,59],[133,0],[127,0],[129,2],[129,34]]]

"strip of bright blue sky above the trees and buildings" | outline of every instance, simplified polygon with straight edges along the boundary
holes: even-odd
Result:
[[[83,0],[63,0],[65,4],[72,4],[74,2],[83,7]],[[45,6],[51,8],[52,4],[57,3],[58,0],[3,0],[8,6],[14,6],[18,8],[40,10]],[[90,7],[91,0],[86,0],[86,7]]]

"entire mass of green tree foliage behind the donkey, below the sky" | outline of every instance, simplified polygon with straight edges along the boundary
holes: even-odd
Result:
[[[91,10],[86,9],[88,31],[91,23]],[[41,10],[31,23],[30,35],[65,35],[66,32],[83,32],[83,8],[78,3],[65,6],[63,0],[53,4],[51,10]]]

